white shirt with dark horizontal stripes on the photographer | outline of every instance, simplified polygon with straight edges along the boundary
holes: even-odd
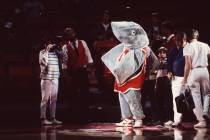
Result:
[[[58,79],[60,77],[59,60],[55,52],[41,52],[41,59],[46,62],[40,77],[46,80]]]

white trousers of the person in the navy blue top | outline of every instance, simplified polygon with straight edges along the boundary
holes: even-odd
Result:
[[[175,98],[180,95],[183,77],[174,76],[172,80],[172,94],[173,94],[173,110],[174,110],[174,122],[180,122],[182,114],[177,112]]]

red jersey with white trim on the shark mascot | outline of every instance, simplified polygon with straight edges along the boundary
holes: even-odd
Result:
[[[128,90],[139,90],[142,88],[142,85],[145,80],[145,72],[146,72],[146,58],[147,58],[147,52],[146,49],[143,49],[143,52],[145,54],[144,57],[144,63],[142,65],[141,70],[138,74],[130,78],[128,81],[126,81],[124,84],[119,85],[116,81],[114,84],[114,91],[119,93],[126,93]]]

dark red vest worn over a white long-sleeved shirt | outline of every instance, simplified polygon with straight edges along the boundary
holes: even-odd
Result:
[[[76,70],[78,68],[82,68],[84,65],[88,64],[88,58],[85,54],[85,48],[81,40],[78,40],[78,46],[76,46],[78,54],[74,48],[71,46],[71,42],[67,44],[68,50],[68,68],[72,70]]]

